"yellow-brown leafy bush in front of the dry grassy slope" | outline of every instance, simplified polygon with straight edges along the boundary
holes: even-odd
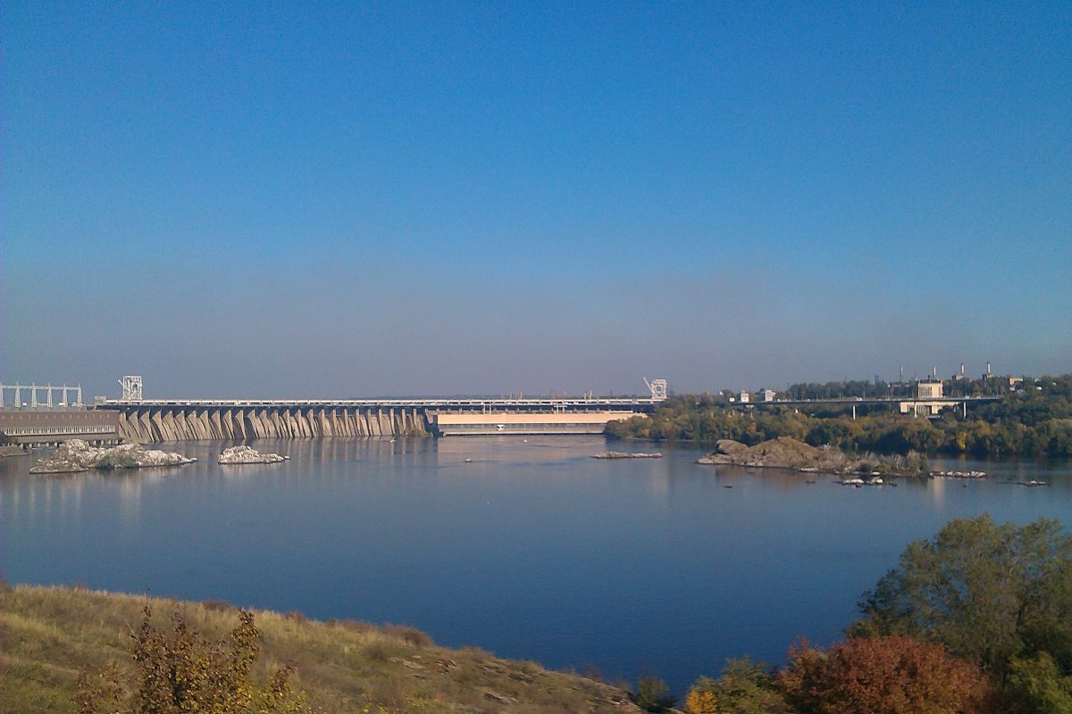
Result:
[[[79,714],[303,714],[304,698],[291,690],[293,667],[277,670],[267,685],[250,678],[260,633],[253,613],[239,610],[229,641],[211,642],[175,614],[172,631],[152,624],[145,608],[131,635],[136,674],[128,681],[116,666],[78,675]]]

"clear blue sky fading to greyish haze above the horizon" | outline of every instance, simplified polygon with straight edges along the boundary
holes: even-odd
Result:
[[[0,381],[1072,371],[1072,4],[0,10]]]

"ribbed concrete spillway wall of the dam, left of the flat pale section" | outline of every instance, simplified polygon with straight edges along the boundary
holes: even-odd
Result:
[[[416,407],[126,407],[119,434],[126,441],[237,441],[429,434]]]

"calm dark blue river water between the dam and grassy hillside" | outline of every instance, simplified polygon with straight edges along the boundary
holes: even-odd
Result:
[[[1072,525],[1067,461],[943,461],[991,477],[851,488],[703,467],[693,449],[596,460],[607,444],[587,437],[258,441],[291,460],[218,466],[225,445],[105,475],[0,459],[4,578],[406,623],[683,693],[726,657],[836,639],[905,545],[950,518]],[[1010,483],[1030,478],[1052,485]]]

